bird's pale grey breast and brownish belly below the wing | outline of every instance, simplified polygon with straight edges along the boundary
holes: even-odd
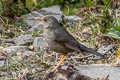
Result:
[[[66,48],[65,46],[61,45],[60,43],[56,42],[56,33],[53,30],[45,29],[44,30],[44,38],[46,42],[48,43],[49,48],[52,51],[58,52],[58,53],[68,53],[72,52],[73,50]]]

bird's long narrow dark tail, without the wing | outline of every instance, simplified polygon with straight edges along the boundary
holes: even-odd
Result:
[[[83,52],[88,52],[88,53],[91,53],[91,54],[95,54],[95,55],[97,55],[97,56],[100,56],[101,58],[105,58],[104,55],[102,55],[101,53],[96,52],[96,51],[94,51],[93,49],[88,48],[88,47],[86,47],[86,46],[84,46],[84,45],[82,45],[82,44],[79,45],[79,49],[80,49],[81,51],[83,51]]]

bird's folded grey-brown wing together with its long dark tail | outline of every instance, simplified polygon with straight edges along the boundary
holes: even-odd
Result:
[[[61,32],[59,33],[56,32],[56,38],[55,38],[55,41],[58,42],[60,45],[68,49],[74,50],[74,51],[88,52],[88,53],[92,53],[92,54],[95,54],[95,55],[98,55],[104,58],[104,56],[101,53],[98,53],[94,51],[93,49],[88,48],[80,44],[79,42],[77,42],[75,38],[71,34],[69,34],[66,30],[60,30],[60,31]]]

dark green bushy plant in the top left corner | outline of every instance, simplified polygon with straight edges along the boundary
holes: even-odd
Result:
[[[13,0],[0,0],[0,15],[6,17],[20,16],[27,13],[22,4],[13,3]]]

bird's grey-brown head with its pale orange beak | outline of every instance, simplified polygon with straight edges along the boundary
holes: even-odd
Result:
[[[45,28],[51,28],[51,29],[54,29],[54,28],[57,28],[58,26],[58,21],[55,17],[53,16],[44,16],[42,18],[34,18],[35,20],[40,20],[41,22],[43,22],[44,24],[44,27]]]

